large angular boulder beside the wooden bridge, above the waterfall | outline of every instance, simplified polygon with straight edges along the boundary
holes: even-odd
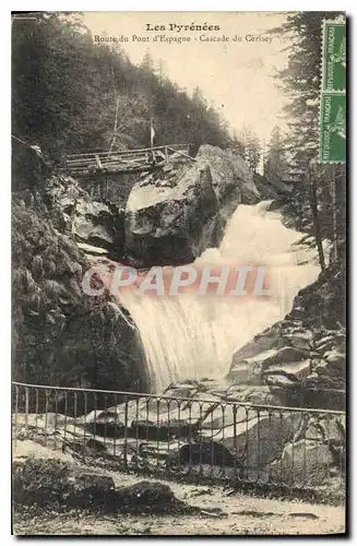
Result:
[[[127,203],[126,248],[139,266],[192,262],[219,244],[236,209],[257,202],[245,162],[201,146],[194,162],[178,162],[136,183]]]

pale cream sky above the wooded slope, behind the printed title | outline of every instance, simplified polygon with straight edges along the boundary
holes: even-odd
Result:
[[[150,50],[155,62],[164,61],[166,75],[179,87],[191,94],[200,86],[231,129],[239,133],[251,127],[263,142],[269,141],[275,126],[284,129],[281,116],[286,99],[272,76],[286,66],[287,52],[282,51],[286,43],[281,37],[262,39],[285,17],[286,12],[84,12],[93,36],[128,37],[129,41],[119,44],[134,63]],[[170,29],[170,24],[192,23],[216,25],[219,31]],[[147,24],[165,26],[165,31],[148,31]],[[155,36],[190,37],[191,41],[155,41]],[[229,41],[202,40],[223,36]],[[240,40],[234,41],[235,36]]]

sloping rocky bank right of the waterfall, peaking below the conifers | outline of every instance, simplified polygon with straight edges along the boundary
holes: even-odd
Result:
[[[321,276],[300,290],[283,321],[234,354],[228,382],[269,388],[282,405],[344,410],[346,333],[333,320],[332,292]]]

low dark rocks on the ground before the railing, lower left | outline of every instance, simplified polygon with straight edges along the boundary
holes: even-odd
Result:
[[[111,476],[84,473],[56,459],[26,459],[14,465],[14,506],[37,506],[66,511],[73,508],[95,513],[200,513],[177,499],[166,484],[141,480],[116,487]]]

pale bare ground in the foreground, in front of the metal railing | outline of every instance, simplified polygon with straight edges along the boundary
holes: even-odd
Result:
[[[70,483],[98,486],[107,491],[126,489],[142,483],[128,474],[79,464],[70,454],[53,452],[29,440],[19,441],[14,460],[59,461],[69,470]],[[37,462],[37,463],[36,463]],[[28,463],[27,463],[28,464]],[[83,478],[83,475],[86,478]],[[80,478],[82,476],[82,478]],[[91,478],[92,476],[92,478]],[[92,482],[91,482],[92,480]],[[36,480],[33,479],[33,484]],[[219,486],[198,486],[151,478],[156,491],[169,495],[171,505],[186,512],[157,514],[152,510],[138,513],[100,513],[97,509],[44,509],[16,505],[13,531],[16,535],[324,535],[345,532],[342,506],[317,505],[302,500],[260,498]],[[107,488],[107,489],[106,489]],[[79,488],[78,488],[79,490]],[[156,496],[156,499],[159,497]],[[133,507],[135,503],[133,503]],[[138,505],[136,505],[138,506]]]

